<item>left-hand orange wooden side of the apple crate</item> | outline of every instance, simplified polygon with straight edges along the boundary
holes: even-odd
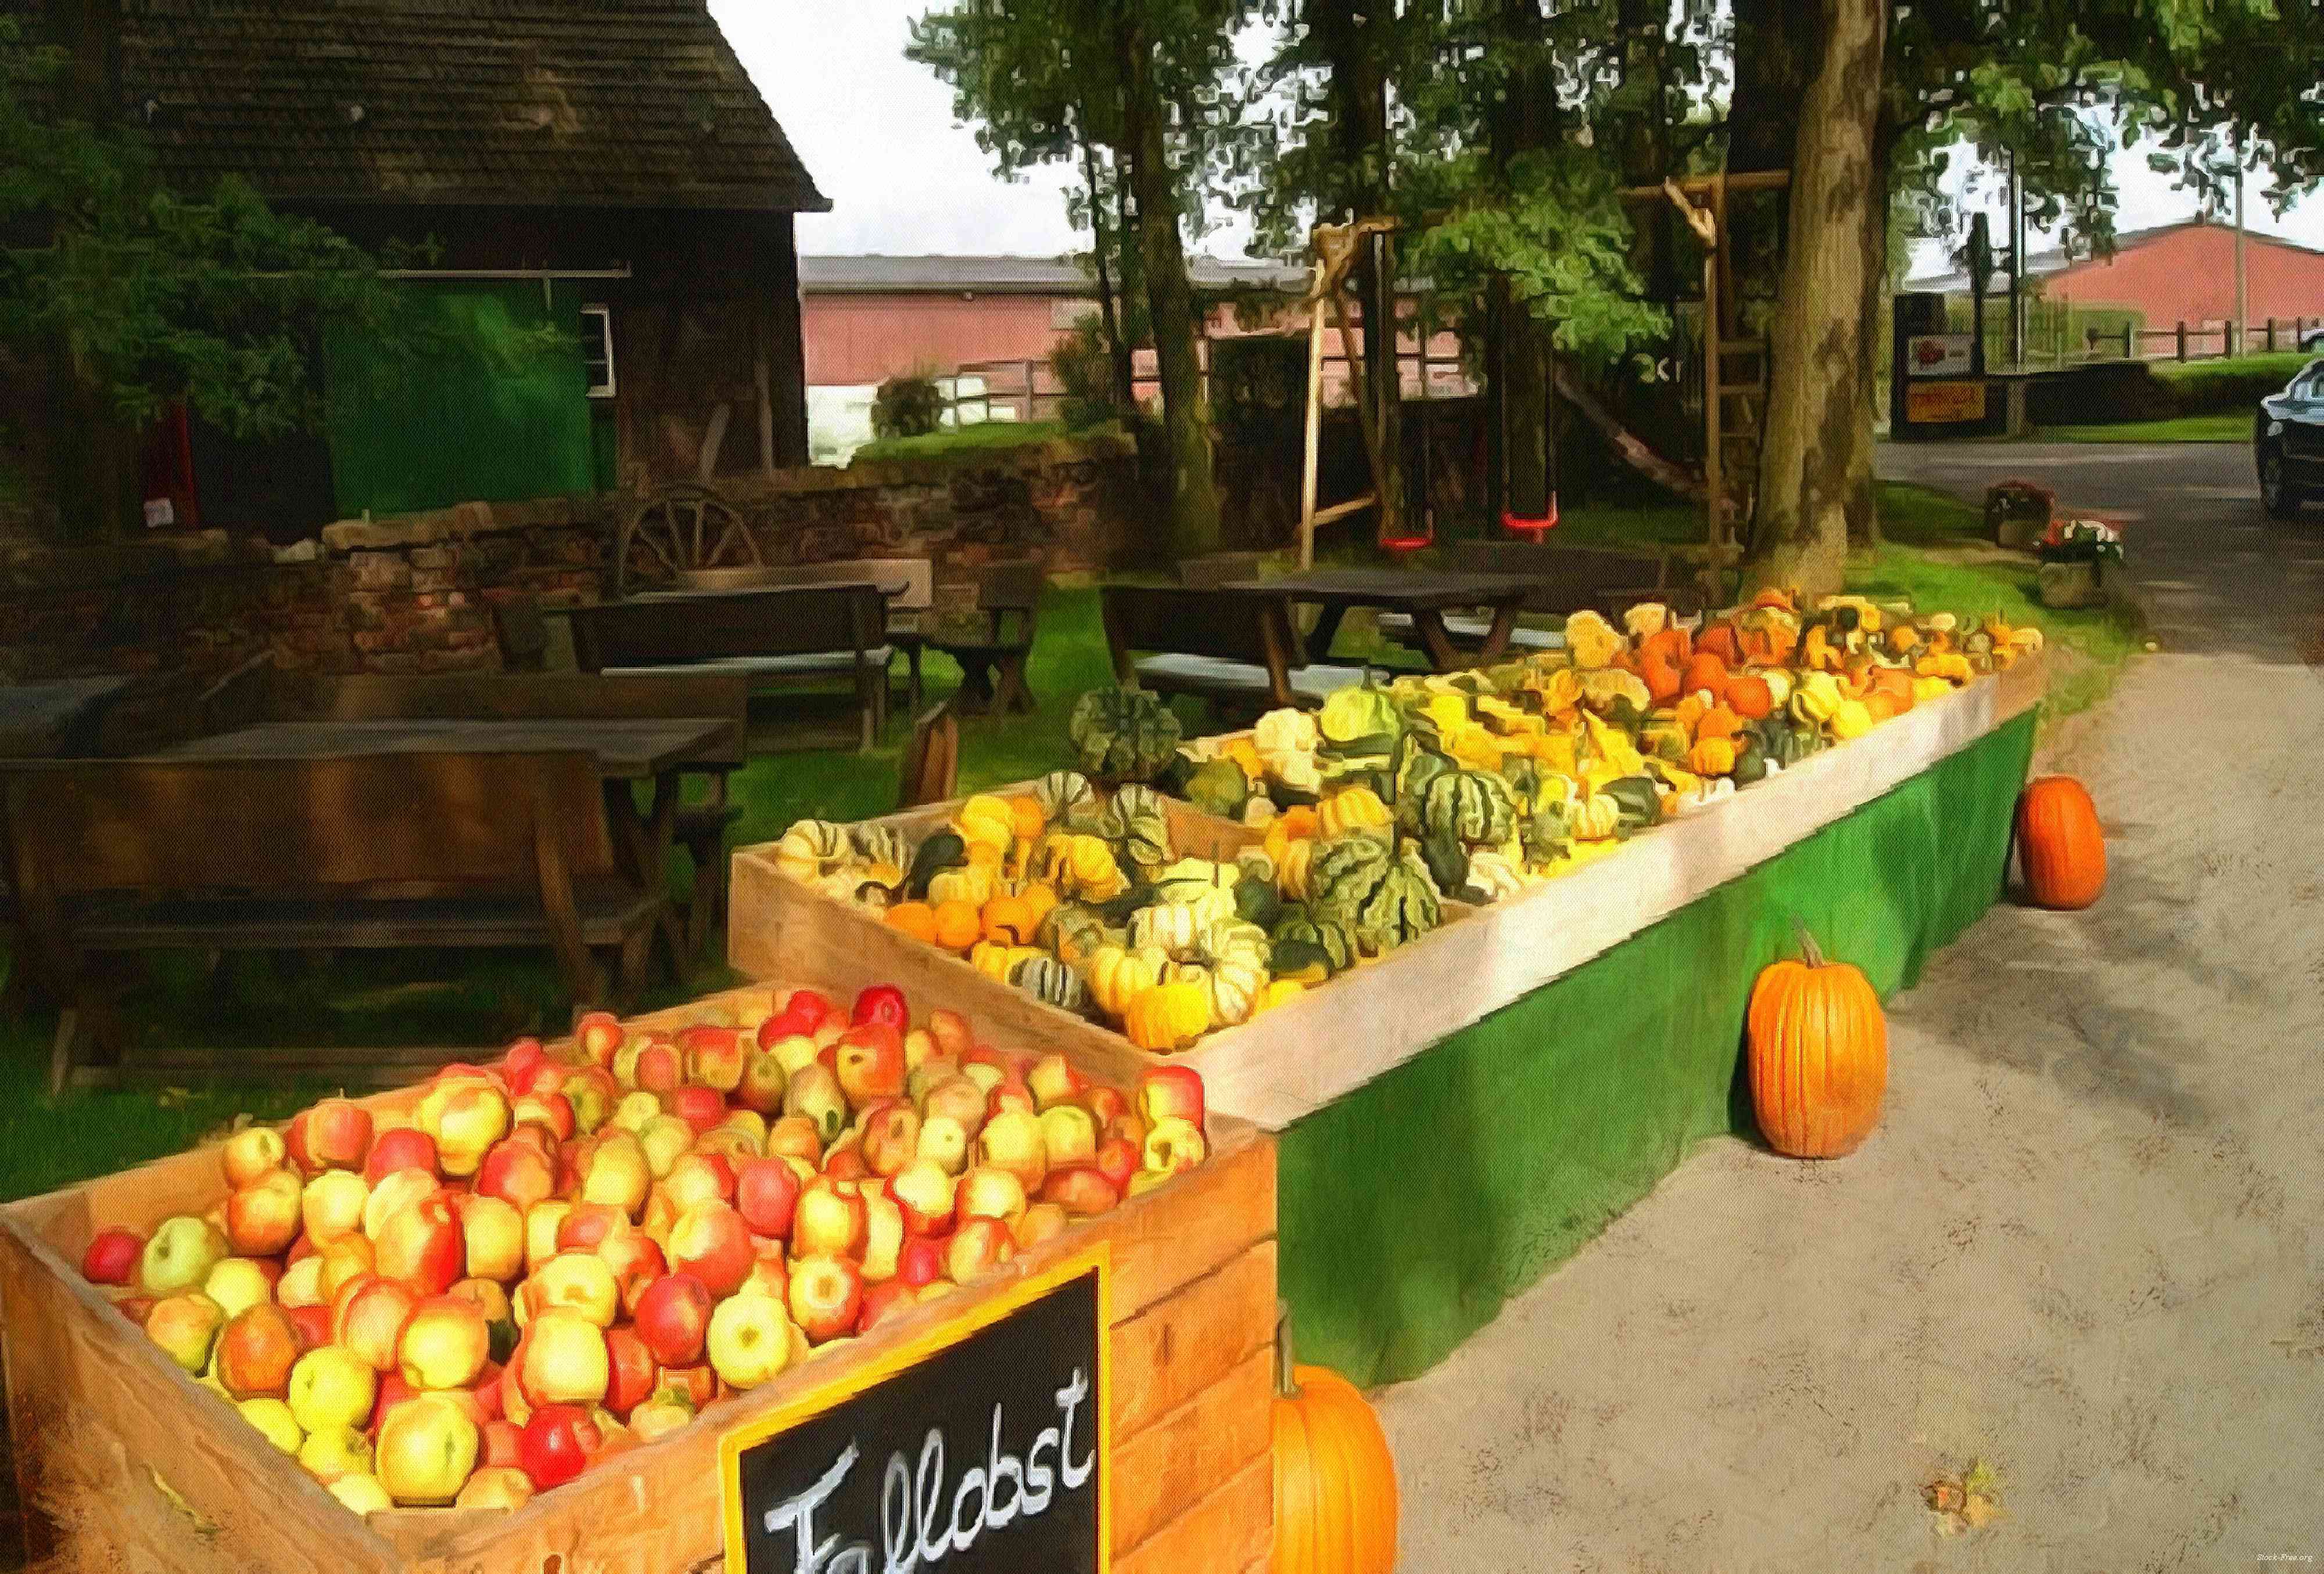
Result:
[[[184,1574],[395,1567],[381,1537],[65,1272],[0,1223],[9,1428],[35,1560]]]

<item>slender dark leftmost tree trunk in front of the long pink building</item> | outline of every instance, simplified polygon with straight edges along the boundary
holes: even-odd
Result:
[[[1127,28],[1125,65],[1129,174],[1139,195],[1139,251],[1146,265],[1155,360],[1162,369],[1162,420],[1169,429],[1171,550],[1178,557],[1199,557],[1220,548],[1211,399],[1202,388],[1195,288],[1185,276],[1185,241],[1178,234],[1178,176],[1169,163],[1162,135],[1164,104],[1155,91],[1146,28],[1136,21],[1136,12]]]

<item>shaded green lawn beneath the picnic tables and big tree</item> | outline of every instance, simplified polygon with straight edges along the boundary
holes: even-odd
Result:
[[[1882,488],[1889,543],[1850,569],[1857,590],[1910,594],[1957,613],[2001,611],[2010,622],[2038,622],[2050,636],[2089,657],[2052,699],[2059,713],[2089,706],[2136,650],[2136,631],[2106,613],[2050,613],[2033,601],[2033,569],[2024,559],[1992,562],[1982,548],[1978,508],[1917,488]],[[1557,541],[1685,546],[1701,534],[1690,508],[1573,511]],[[1346,562],[1362,555],[1346,553]],[[1411,664],[1413,657],[1380,641],[1369,620],[1350,615],[1339,657]],[[1025,780],[1067,759],[1064,720],[1083,689],[1111,680],[1097,590],[1057,583],[1041,604],[1041,641],[1032,659],[1041,701],[1030,717],[964,717],[960,724],[962,789]],[[957,669],[927,657],[932,696],[960,683]],[[1190,736],[1211,729],[1202,706],[1181,701]],[[883,748],[762,754],[732,778],[744,806],[739,843],[774,840],[802,815],[862,820],[895,806],[904,727],[890,727]],[[723,943],[713,940],[713,950]],[[449,980],[449,982],[442,982]],[[646,1005],[674,1003],[732,982],[716,961],[697,966],[683,984],[662,982]],[[163,956],[125,1001],[132,1031],[179,1045],[414,1045],[476,1049],[518,1033],[558,1031],[567,1003],[555,973],[539,954],[372,954],[344,952],[328,966],[300,959],[232,956],[205,977],[193,956]],[[202,1089],[139,1089],[119,1093],[46,1093],[46,1047],[53,1017],[0,1024],[0,1198],[46,1191],[88,1175],[179,1151],[237,1114],[286,1117],[330,1091],[253,1080]]]

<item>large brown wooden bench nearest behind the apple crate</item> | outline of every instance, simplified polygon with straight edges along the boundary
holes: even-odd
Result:
[[[588,754],[114,759],[23,766],[0,789],[26,929],[65,1005],[51,1086],[84,1028],[121,1049],[91,954],[546,945],[572,998],[602,1005],[597,952],[616,954],[614,1001],[634,996],[665,905],[621,873]]]

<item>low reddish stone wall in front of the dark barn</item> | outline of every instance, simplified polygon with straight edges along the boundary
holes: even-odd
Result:
[[[1127,439],[723,478],[772,564],[930,557],[939,604],[988,562],[1134,566],[1162,546]],[[0,546],[0,680],[144,673],[123,743],[184,729],[191,699],[267,652],[328,673],[500,664],[493,601],[593,601],[634,499],[553,497],[339,520],[288,548],[228,532],[102,548]],[[114,724],[109,724],[114,727]]]

